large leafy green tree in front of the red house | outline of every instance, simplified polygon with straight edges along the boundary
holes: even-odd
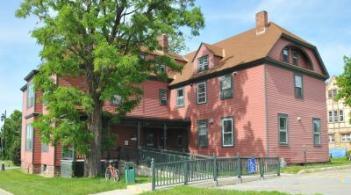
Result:
[[[103,102],[118,95],[122,116],[138,104],[138,84],[150,75],[165,78],[157,65],[180,70],[167,54],[148,60],[140,54],[160,49],[162,34],[182,45],[186,32],[198,35],[204,26],[194,0],[24,0],[16,14],[39,20],[32,36],[43,46],[42,63],[34,81],[49,113],[35,127],[44,141],[86,154],[87,176],[100,166]],[[54,75],[83,76],[87,89],[58,86]]]

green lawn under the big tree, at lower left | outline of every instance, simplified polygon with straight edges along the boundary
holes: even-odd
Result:
[[[137,178],[137,183],[147,181],[149,181],[147,177]],[[117,183],[105,181],[104,178],[45,178],[39,175],[25,174],[20,169],[14,169],[0,172],[0,188],[15,195],[86,195],[126,188],[126,184],[123,178]]]

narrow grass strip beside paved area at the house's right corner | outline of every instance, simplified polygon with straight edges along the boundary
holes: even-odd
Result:
[[[314,163],[314,164],[306,164],[306,165],[292,165],[282,168],[282,173],[298,173],[301,170],[314,169],[314,168],[323,168],[323,167],[336,167],[342,165],[351,165],[351,161],[346,158],[336,158],[332,159],[327,163]]]

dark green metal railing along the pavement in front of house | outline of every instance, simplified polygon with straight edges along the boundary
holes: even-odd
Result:
[[[229,157],[192,159],[158,163],[151,161],[152,189],[176,184],[188,184],[195,181],[218,181],[221,177],[238,177],[267,174],[280,175],[278,157]]]

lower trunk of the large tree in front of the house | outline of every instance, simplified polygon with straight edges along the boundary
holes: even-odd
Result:
[[[96,177],[101,169],[102,107],[99,100],[95,101],[94,110],[88,117],[88,129],[91,131],[93,139],[86,156],[84,172],[87,177]]]

